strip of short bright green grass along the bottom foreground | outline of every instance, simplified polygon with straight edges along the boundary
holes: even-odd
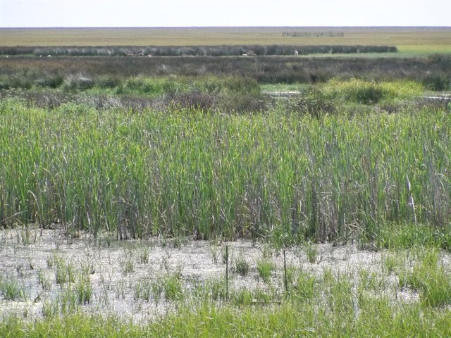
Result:
[[[390,307],[374,301],[355,317],[315,304],[273,308],[204,305],[183,307],[154,323],[136,325],[118,318],[75,313],[25,323],[8,318],[1,337],[448,337],[451,312],[420,306]]]

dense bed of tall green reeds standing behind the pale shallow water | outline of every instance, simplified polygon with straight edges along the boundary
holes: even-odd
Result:
[[[288,244],[380,241],[416,222],[449,249],[449,111],[364,112],[46,110],[3,99],[1,224]]]

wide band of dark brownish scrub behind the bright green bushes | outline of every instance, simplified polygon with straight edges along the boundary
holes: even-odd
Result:
[[[105,60],[108,60],[107,62]],[[430,90],[450,90],[451,56],[428,58],[0,58],[0,89],[61,87],[66,80],[87,79],[116,87],[123,77],[238,76],[260,84],[326,82],[332,78],[414,80]]]

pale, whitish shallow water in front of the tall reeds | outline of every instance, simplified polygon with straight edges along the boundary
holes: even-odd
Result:
[[[75,272],[89,267],[92,296],[89,304],[80,306],[82,311],[124,316],[136,322],[165,315],[180,305],[180,301],[166,301],[163,298],[151,298],[149,302],[135,300],[133,289],[138,282],[156,282],[164,275],[180,273],[183,293],[188,299],[185,301],[192,301],[194,298],[190,294],[199,283],[225,280],[223,256],[226,245],[231,268],[229,289],[266,289],[271,285],[273,290],[283,293],[283,251],[277,251],[268,244],[255,244],[248,240],[213,243],[185,239],[113,240],[110,245],[108,243],[103,239],[99,244],[88,234],[68,241],[61,230],[29,230],[28,237],[24,230],[2,230],[0,273],[3,280],[17,280],[25,289],[25,299],[6,301],[2,295],[0,314],[16,313],[27,318],[42,316],[44,304],[56,301],[58,295],[70,285],[61,287],[56,284],[55,268],[48,266],[54,257],[72,264]],[[362,269],[376,273],[381,273],[383,269],[385,253],[380,251],[361,251],[356,245],[331,244],[316,244],[311,249],[316,252],[311,261],[305,247],[286,249],[286,265],[318,277],[325,270],[331,270],[335,275],[346,275],[351,280],[357,280]],[[257,271],[257,261],[262,257],[276,266],[270,284],[263,282]],[[233,273],[235,261],[243,258],[249,263],[249,274],[246,276]],[[450,256],[443,253],[441,259],[447,270],[451,270]],[[128,272],[127,266],[132,271]],[[43,290],[39,284],[39,272],[51,282],[50,290]],[[396,288],[396,276],[390,275],[387,281],[387,292],[391,292],[393,299],[418,299],[416,292]]]

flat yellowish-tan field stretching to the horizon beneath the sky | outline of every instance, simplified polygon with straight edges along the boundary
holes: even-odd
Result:
[[[0,46],[390,45],[451,53],[451,27],[188,27],[1,29]]]

